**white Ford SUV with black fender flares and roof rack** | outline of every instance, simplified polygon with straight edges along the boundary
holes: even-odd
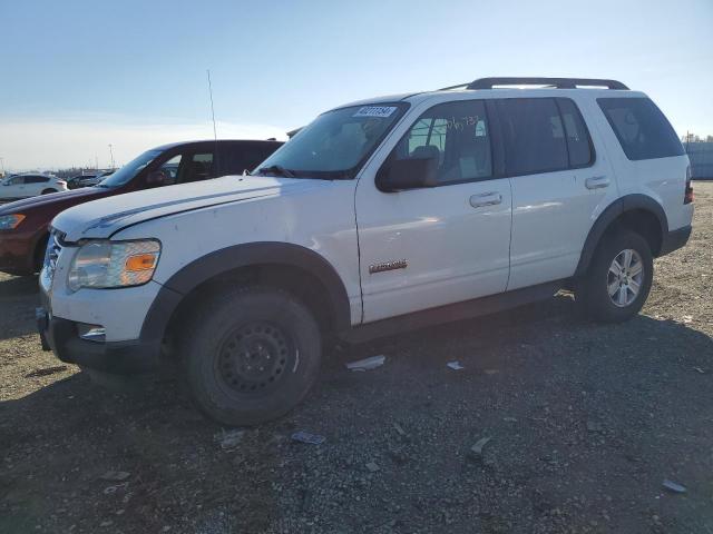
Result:
[[[592,317],[627,319],[652,259],[688,239],[692,199],[673,128],[616,81],[370,99],[319,116],[250,176],[60,214],[39,327],[60,359],[105,373],[175,357],[205,414],[254,424],[305,396],[325,340],[563,287]]]

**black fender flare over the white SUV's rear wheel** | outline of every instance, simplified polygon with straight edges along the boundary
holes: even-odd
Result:
[[[592,258],[594,257],[594,253],[596,251],[597,245],[602,240],[602,236],[609,228],[612,222],[616,220],[619,216],[625,214],[626,211],[632,211],[634,209],[644,209],[646,211],[651,211],[658,219],[658,224],[661,225],[661,235],[665,237],[668,234],[668,219],[666,217],[666,212],[664,208],[654,200],[652,197],[647,195],[633,194],[626,195],[622,198],[617,198],[609,206],[606,207],[604,211],[599,215],[597,220],[592,225],[589,229],[589,234],[587,235],[587,239],[584,241],[584,247],[582,249],[582,255],[579,256],[579,263],[577,264],[577,269],[575,270],[575,277],[583,276],[587,269],[589,268],[589,264],[592,263]]]

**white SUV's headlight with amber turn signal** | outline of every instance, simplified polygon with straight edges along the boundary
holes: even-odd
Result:
[[[140,286],[154,276],[159,255],[155,239],[85,243],[71,261],[67,286],[72,291]]]

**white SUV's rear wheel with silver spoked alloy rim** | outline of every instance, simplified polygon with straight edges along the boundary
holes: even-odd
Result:
[[[619,276],[614,261],[625,266],[627,258],[628,269]],[[599,244],[587,274],[577,284],[575,300],[595,320],[621,323],[642,309],[653,277],[654,261],[646,239],[631,230],[615,231]]]

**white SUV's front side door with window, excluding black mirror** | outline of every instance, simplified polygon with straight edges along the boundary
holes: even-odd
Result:
[[[505,290],[511,197],[494,178],[480,100],[433,106],[387,157],[436,158],[438,186],[382,192],[375,170],[356,189],[365,323]]]

